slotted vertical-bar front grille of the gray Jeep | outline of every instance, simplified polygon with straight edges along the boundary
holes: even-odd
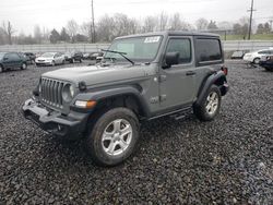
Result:
[[[40,100],[51,107],[62,108],[62,88],[64,82],[43,77],[40,81]]]

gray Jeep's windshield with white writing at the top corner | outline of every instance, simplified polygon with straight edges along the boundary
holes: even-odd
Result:
[[[109,50],[124,52],[126,57],[133,61],[152,61],[156,57],[162,41],[162,36],[134,37],[117,39],[109,47]],[[105,59],[117,59],[124,61],[118,53],[106,52]]]

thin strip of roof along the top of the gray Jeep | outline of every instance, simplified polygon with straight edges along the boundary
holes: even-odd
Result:
[[[145,34],[121,36],[121,37],[117,37],[116,39],[128,38],[128,37],[138,37],[138,36],[207,36],[207,37],[211,36],[211,37],[219,37],[218,34],[213,34],[213,33],[166,31],[166,32],[152,32],[152,33],[145,33]]]

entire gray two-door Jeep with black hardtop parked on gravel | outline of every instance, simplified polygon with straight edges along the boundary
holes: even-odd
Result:
[[[217,116],[228,91],[219,36],[133,35],[104,51],[95,65],[43,74],[25,118],[56,135],[84,136],[94,162],[115,166],[134,152],[143,120],[191,108],[202,121]]]

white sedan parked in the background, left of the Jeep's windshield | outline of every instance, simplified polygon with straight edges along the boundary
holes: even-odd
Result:
[[[37,67],[39,65],[52,65],[64,64],[64,57],[60,52],[45,52],[40,57],[35,59]]]

